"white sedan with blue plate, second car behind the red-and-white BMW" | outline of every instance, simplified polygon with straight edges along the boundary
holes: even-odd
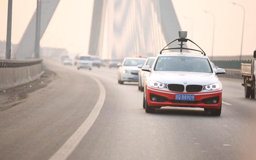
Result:
[[[125,58],[123,63],[117,64],[118,68],[118,83],[123,82],[138,82],[138,74],[140,68],[137,66],[143,64],[146,58]]]

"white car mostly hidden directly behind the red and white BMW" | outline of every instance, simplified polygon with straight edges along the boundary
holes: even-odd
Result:
[[[155,57],[148,57],[143,65],[138,65],[138,68],[142,68],[142,66],[144,66],[144,65],[149,65],[151,68],[154,61],[155,61]],[[144,79],[145,79],[146,74],[148,74],[148,72],[143,71],[143,70],[139,71],[138,90],[140,90],[140,91],[144,91]]]

